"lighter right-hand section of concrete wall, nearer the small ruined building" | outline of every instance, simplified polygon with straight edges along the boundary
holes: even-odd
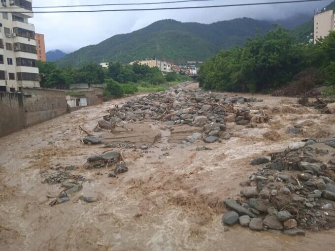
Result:
[[[67,113],[65,91],[23,88],[22,93],[26,126],[32,126]]]

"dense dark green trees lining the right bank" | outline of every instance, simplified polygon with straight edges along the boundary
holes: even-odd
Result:
[[[290,31],[277,27],[242,47],[220,51],[201,65],[199,79],[205,89],[262,92],[286,85],[311,67],[322,84],[335,86],[335,32],[315,45],[301,44]]]

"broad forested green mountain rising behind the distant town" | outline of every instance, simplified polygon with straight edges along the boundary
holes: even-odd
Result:
[[[185,61],[204,61],[220,49],[242,45],[257,30],[264,33],[272,23],[251,18],[238,18],[212,24],[181,23],[161,20],[143,29],[112,36],[99,44],[83,47],[56,61],[68,64],[118,60],[129,63],[143,58]]]

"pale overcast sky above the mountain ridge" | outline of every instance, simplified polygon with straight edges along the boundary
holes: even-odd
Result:
[[[161,2],[167,0],[33,0],[33,6],[61,6],[78,4],[102,4],[120,2]],[[213,0],[204,2],[173,3],[160,5],[106,6],[52,8],[43,10],[90,10],[90,9],[125,9],[155,8],[167,6],[201,6],[245,2],[267,2],[275,0]],[[277,1],[277,0],[276,0]],[[35,25],[37,33],[45,35],[46,50],[60,49],[67,53],[83,46],[97,44],[102,40],[120,33],[136,31],[162,19],[175,19],[181,22],[198,22],[209,24],[216,21],[230,20],[238,17],[278,20],[299,13],[312,14],[316,8],[322,8],[332,0],[308,3],[272,4],[242,7],[221,7],[186,10],[127,11],[97,13],[35,13],[30,23]],[[42,10],[42,9],[35,9]]]

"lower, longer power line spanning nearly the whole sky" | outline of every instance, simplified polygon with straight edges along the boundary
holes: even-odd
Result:
[[[186,7],[163,7],[163,8],[146,8],[146,9],[100,9],[100,10],[62,10],[62,11],[2,11],[4,13],[89,13],[89,12],[116,12],[116,11],[151,11],[151,10],[176,10],[176,9],[203,9],[203,8],[219,8],[219,7],[236,7],[251,5],[270,5],[282,3],[297,2],[316,2],[325,0],[294,0],[294,1],[277,1],[277,2],[255,2],[255,3],[236,3],[224,5],[205,5],[205,6],[186,6]]]

